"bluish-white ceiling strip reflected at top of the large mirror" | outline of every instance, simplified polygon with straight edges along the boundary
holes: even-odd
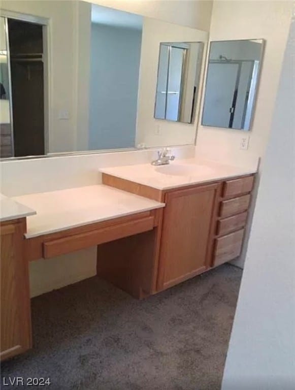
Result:
[[[125,27],[142,30],[143,17],[92,4],[91,22],[114,27]]]

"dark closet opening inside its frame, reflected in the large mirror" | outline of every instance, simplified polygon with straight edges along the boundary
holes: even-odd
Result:
[[[45,153],[43,26],[8,19],[14,155]]]

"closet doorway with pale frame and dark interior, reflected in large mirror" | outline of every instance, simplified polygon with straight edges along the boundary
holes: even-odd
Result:
[[[4,21],[7,43],[9,95],[6,99],[10,106],[11,140],[4,149],[1,138],[2,157],[44,155],[49,125],[48,21],[8,11],[2,11],[1,20]]]

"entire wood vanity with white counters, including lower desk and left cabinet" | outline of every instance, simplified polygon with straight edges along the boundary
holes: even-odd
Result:
[[[1,360],[32,345],[30,261],[95,245],[97,276],[142,299],[239,256],[254,172],[192,161],[101,171],[100,185],[1,198]]]

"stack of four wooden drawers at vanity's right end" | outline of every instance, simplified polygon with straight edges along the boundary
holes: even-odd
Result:
[[[213,249],[213,267],[241,253],[254,176],[223,183]]]

